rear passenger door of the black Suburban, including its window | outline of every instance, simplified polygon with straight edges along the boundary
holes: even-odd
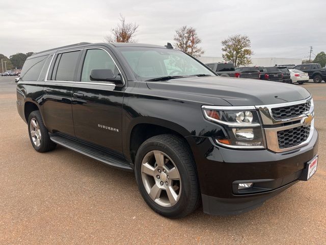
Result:
[[[52,60],[44,85],[43,117],[50,132],[74,136],[72,120],[72,86],[82,51],[57,53]]]

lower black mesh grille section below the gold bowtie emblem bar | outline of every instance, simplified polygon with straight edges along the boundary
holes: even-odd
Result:
[[[310,125],[278,131],[277,137],[279,141],[279,148],[285,149],[297,146],[308,139],[309,133]]]

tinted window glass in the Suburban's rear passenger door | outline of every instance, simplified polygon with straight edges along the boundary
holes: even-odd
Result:
[[[52,77],[52,80],[72,81],[79,53],[80,51],[74,51],[62,53],[60,56],[58,56],[55,65],[55,69],[57,69],[56,76],[54,79]]]

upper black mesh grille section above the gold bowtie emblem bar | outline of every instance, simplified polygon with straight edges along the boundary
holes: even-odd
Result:
[[[298,105],[271,108],[271,114],[275,120],[290,119],[308,112],[310,106],[310,101],[308,101]]]

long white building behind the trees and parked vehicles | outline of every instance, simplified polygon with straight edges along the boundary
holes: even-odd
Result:
[[[206,63],[216,63],[224,62],[222,57],[199,57],[198,58],[204,64]],[[252,66],[274,66],[274,65],[288,65],[301,64],[302,59],[290,59],[290,58],[252,58]]]

